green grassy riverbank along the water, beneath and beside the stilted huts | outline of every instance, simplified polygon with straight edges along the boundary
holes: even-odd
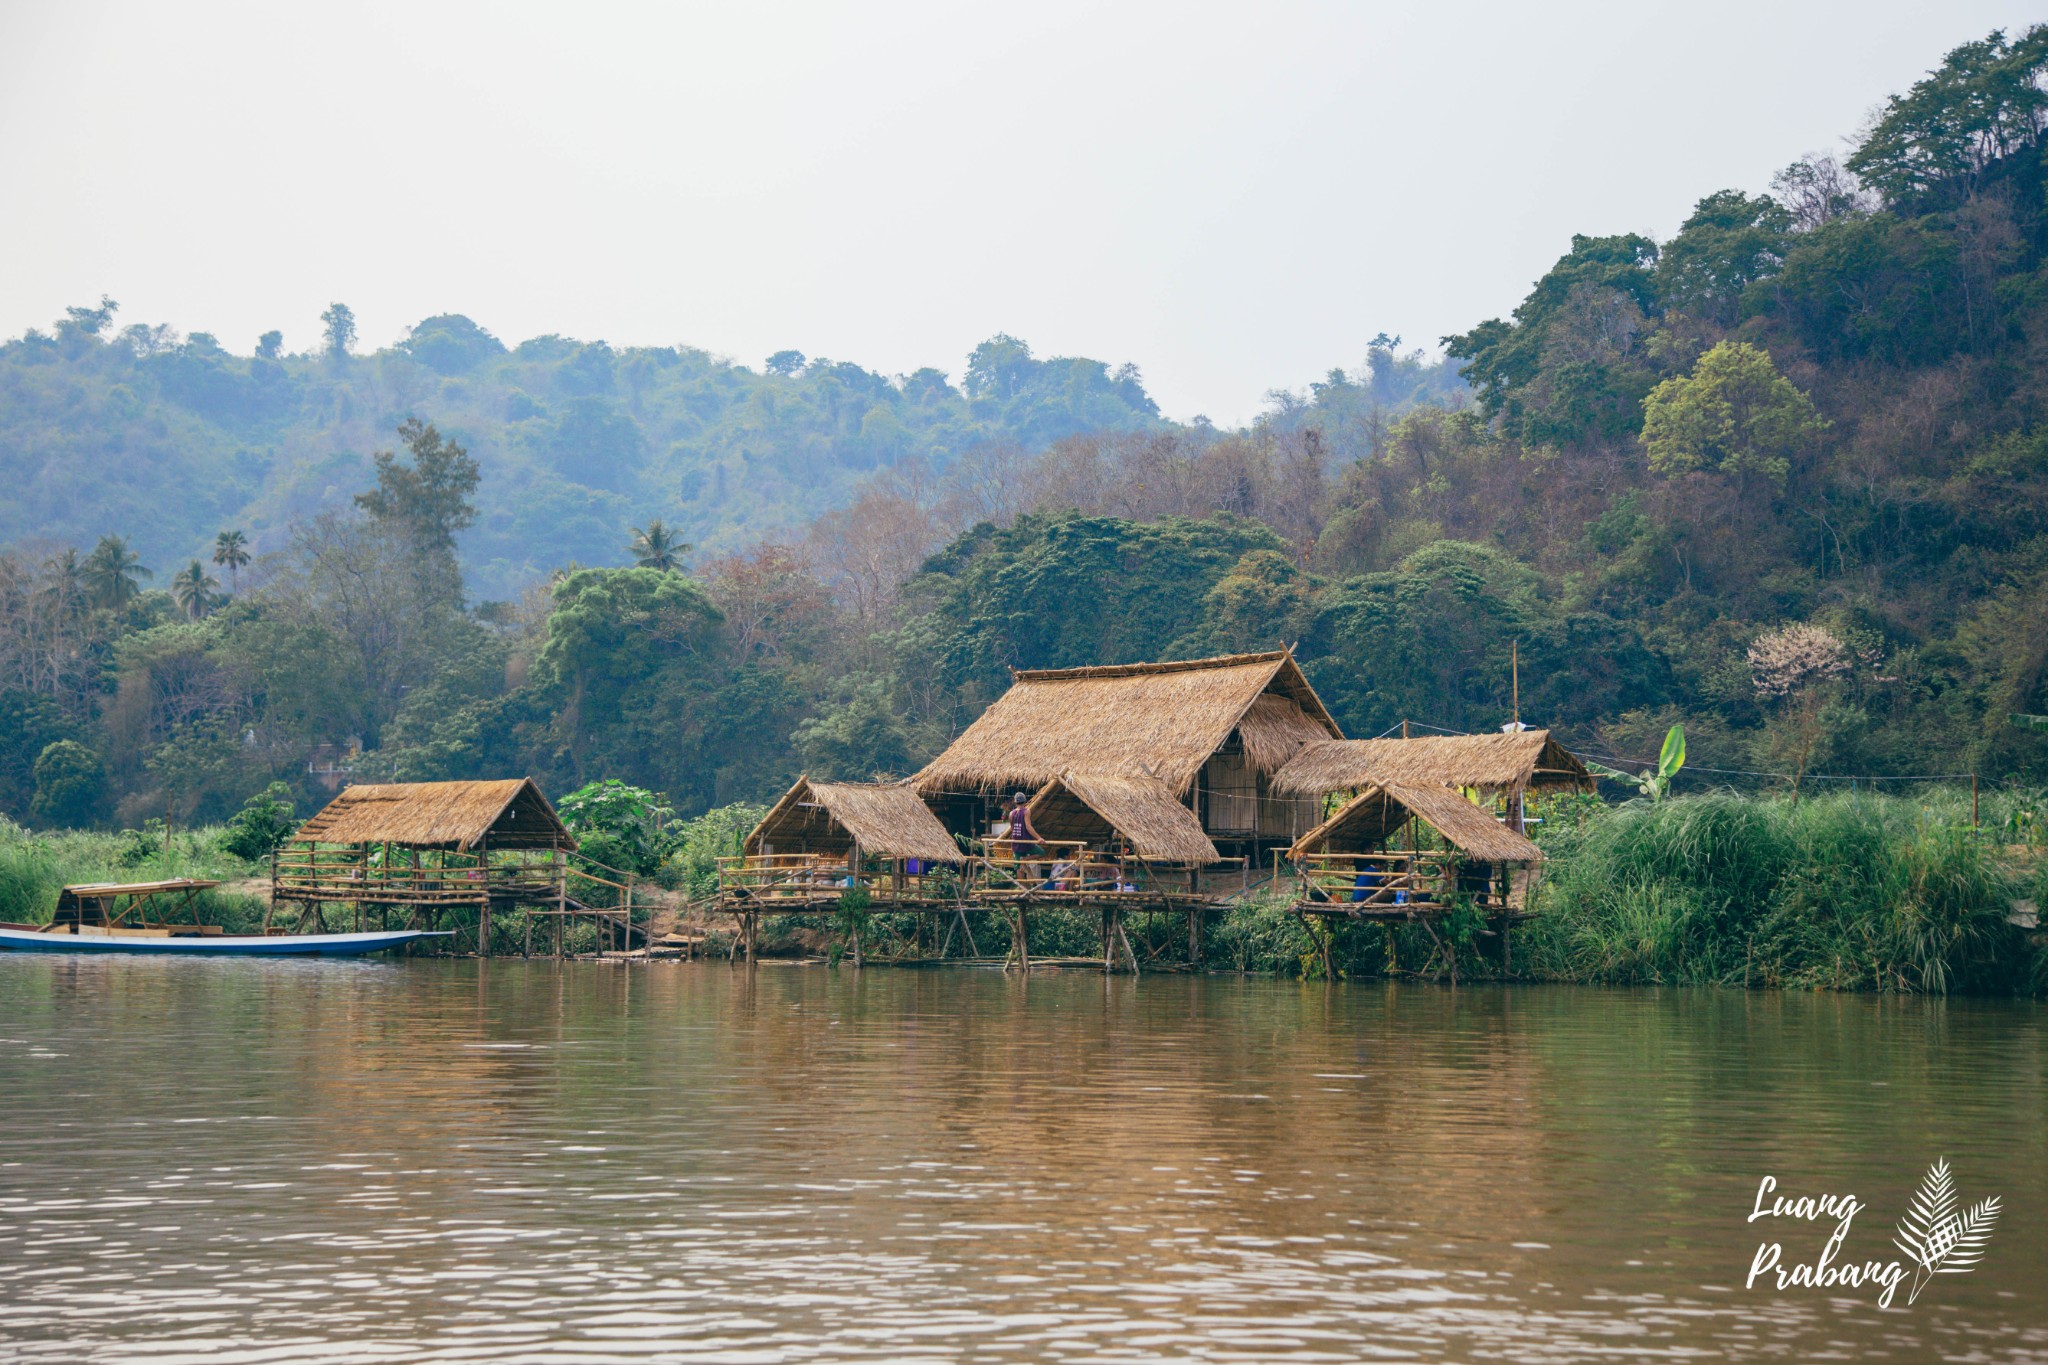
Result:
[[[1987,796],[1972,825],[1966,792],[1917,798],[1829,794],[1808,800],[1686,796],[1536,810],[1546,853],[1534,915],[1503,945],[1477,915],[1423,925],[1305,925],[1278,890],[1206,917],[1198,962],[1182,915],[1133,915],[1145,970],[1276,976],[1718,984],[1913,995],[2048,995],[2048,943],[2023,927],[2048,905],[2048,849],[2023,794]],[[29,833],[0,827],[0,919],[47,919],[66,882],[193,876],[221,880],[203,907],[229,929],[262,919],[262,868],[219,847],[219,831]],[[651,894],[651,892],[649,892]],[[680,907],[643,907],[666,931]],[[502,915],[498,939],[520,943]],[[727,925],[682,917],[721,950]],[[776,917],[768,954],[840,960],[858,927],[864,960],[1001,956],[1001,915],[969,913],[961,933],[866,911]],[[940,941],[940,931],[946,941]],[[1092,911],[1030,917],[1034,960],[1100,960]],[[586,937],[590,937],[586,933]],[[596,939],[571,948],[596,950]],[[1505,950],[1505,952],[1503,952]]]

